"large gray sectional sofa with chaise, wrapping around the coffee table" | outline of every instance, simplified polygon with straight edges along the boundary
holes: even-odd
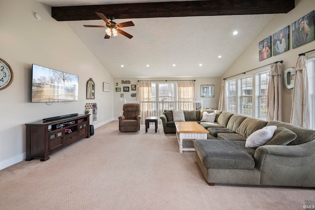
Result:
[[[215,112],[215,122],[196,120],[209,131],[208,139],[193,141],[197,163],[209,185],[315,187],[315,130]],[[166,125],[166,132],[173,132],[171,122]],[[257,148],[245,146],[252,133],[272,125],[277,129],[267,143]]]

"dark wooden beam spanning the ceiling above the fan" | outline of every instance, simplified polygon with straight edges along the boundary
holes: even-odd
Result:
[[[252,15],[287,13],[294,0],[195,0],[153,3],[124,3],[52,7],[57,21],[98,20],[95,12],[116,19],[186,17],[214,15]]]

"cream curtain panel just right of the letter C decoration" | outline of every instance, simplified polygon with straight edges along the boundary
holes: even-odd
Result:
[[[300,56],[295,65],[293,101],[290,123],[310,128],[309,85],[307,76],[307,58]]]

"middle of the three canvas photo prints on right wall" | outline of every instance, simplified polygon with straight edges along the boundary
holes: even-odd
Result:
[[[289,26],[277,31],[272,35],[272,55],[278,55],[288,51],[290,48],[290,30]]]

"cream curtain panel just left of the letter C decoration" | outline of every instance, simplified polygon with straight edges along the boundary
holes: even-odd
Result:
[[[281,121],[281,72],[282,63],[270,65],[267,92],[267,120]]]

